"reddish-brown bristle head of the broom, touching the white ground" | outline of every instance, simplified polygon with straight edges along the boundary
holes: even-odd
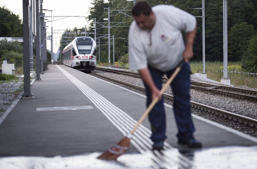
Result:
[[[117,160],[120,155],[124,154],[127,151],[129,145],[130,138],[124,137],[122,140],[120,140],[118,144],[112,146],[111,148],[109,148],[109,150],[107,150],[97,158],[102,160]]]

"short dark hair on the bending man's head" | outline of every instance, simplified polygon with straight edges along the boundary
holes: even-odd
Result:
[[[151,6],[146,1],[140,1],[135,4],[132,9],[132,14],[134,16],[140,16],[141,14],[149,16],[152,11]]]

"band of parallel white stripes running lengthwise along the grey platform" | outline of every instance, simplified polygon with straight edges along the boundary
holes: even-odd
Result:
[[[77,78],[72,76],[66,70],[56,65],[63,73],[74,83],[87,98],[92,101],[92,103],[107,117],[112,124],[117,127],[117,129],[122,132],[123,135],[127,135],[131,132],[132,128],[135,127],[137,121],[122,111],[120,108],[115,106],[112,102],[101,96],[99,93],[94,91],[92,88],[86,84],[79,81]],[[161,157],[161,153],[152,152],[152,141],[150,140],[151,131],[145,126],[140,124],[137,131],[133,134],[131,143],[137,148],[139,152],[147,157],[150,157],[155,161],[155,166],[153,168],[170,168],[174,163],[177,163],[177,159],[174,159],[171,153],[165,155],[165,158]],[[177,149],[171,147],[167,142],[165,142],[165,149],[169,152],[177,152],[179,158],[179,165],[182,168],[192,167],[192,163],[183,155],[180,155]]]

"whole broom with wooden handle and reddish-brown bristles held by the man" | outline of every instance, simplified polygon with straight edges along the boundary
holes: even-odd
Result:
[[[180,69],[181,69],[181,67],[183,66],[184,63],[185,63],[184,60],[182,60],[180,62],[179,66],[176,68],[176,70],[172,74],[172,76],[170,76],[168,82],[162,88],[160,93],[163,93],[166,90],[166,88],[170,85],[170,83],[173,81],[173,79],[177,76],[178,72],[180,71]],[[158,100],[159,100],[159,98],[156,97],[152,101],[152,103],[146,109],[145,113],[138,120],[137,125],[134,127],[134,129],[129,134],[127,134],[126,137],[124,137],[122,140],[120,140],[120,142],[118,142],[116,145],[109,148],[109,150],[107,150],[106,152],[104,152],[102,155],[100,155],[97,158],[98,159],[103,159],[103,160],[117,160],[117,158],[119,156],[124,154],[127,151],[128,147],[130,145],[130,139],[132,138],[132,135],[136,131],[137,127],[143,122],[143,120],[145,119],[147,114],[152,110],[153,106],[158,102]]]

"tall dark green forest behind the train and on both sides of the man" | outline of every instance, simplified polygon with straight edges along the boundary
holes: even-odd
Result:
[[[193,8],[202,8],[202,0],[148,0],[150,5],[159,4],[174,5],[183,9],[193,16],[198,16],[197,34],[194,42],[195,60],[203,59],[203,25],[202,10]],[[103,18],[108,17],[107,8],[110,7],[110,62],[113,62],[112,37],[115,36],[115,61],[119,61],[121,57],[128,52],[128,31],[129,26],[133,22],[131,11],[133,1],[122,0],[92,0],[92,7],[89,8],[87,20],[96,18],[97,45],[100,44],[100,62],[108,63],[108,21]],[[119,10],[119,11],[117,11]],[[123,10],[121,13],[120,11]],[[233,0],[228,1],[228,61],[240,60],[243,53],[248,49],[249,40],[256,35],[257,30],[257,1],[256,0]],[[115,23],[114,23],[115,22]],[[89,22],[87,32],[94,32],[94,22]],[[84,29],[84,28],[81,28]],[[74,32],[67,30],[67,32]],[[64,48],[68,42],[64,40],[73,40],[69,38],[74,35],[64,34],[61,48]],[[94,38],[94,35],[90,34]],[[120,39],[125,38],[125,39]],[[100,40],[100,42],[99,42]],[[98,56],[98,54],[97,54]],[[245,56],[245,55],[244,55]],[[240,58],[240,59],[239,59]],[[222,61],[223,60],[223,1],[205,1],[205,60],[206,61]]]

